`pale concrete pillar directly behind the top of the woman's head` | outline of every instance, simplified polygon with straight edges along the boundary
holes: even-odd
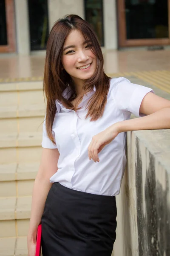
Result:
[[[83,0],[48,0],[49,30],[63,15],[77,14],[84,19]]]

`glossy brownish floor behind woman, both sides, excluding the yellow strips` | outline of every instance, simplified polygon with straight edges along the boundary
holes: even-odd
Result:
[[[105,72],[124,73],[147,70],[170,70],[170,50],[103,52]],[[45,53],[42,55],[0,55],[0,78],[42,77]]]

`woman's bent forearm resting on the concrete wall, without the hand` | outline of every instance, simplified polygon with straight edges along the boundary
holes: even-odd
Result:
[[[111,125],[111,128],[117,128],[118,132],[170,129],[170,108],[163,108],[148,116],[129,119],[117,122]]]

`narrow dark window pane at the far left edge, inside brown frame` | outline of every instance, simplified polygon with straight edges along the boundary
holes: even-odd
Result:
[[[0,45],[7,45],[5,0],[0,1]]]

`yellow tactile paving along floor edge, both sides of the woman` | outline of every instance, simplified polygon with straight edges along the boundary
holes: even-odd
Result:
[[[123,73],[112,73],[108,74],[111,77],[119,76],[133,76],[139,78],[148,84],[152,84],[161,90],[170,93],[170,70],[152,70],[152,71],[138,71],[138,72],[123,72]],[[0,83],[9,82],[22,82],[22,81],[42,81],[42,76],[34,77],[23,77],[23,78],[6,78],[1,79]]]

